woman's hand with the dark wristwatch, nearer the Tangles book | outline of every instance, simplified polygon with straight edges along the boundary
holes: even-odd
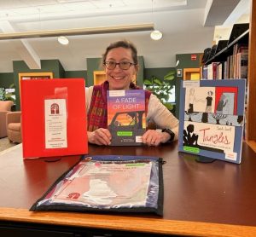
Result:
[[[170,139],[170,135],[166,132],[161,132],[158,130],[147,130],[143,134],[143,143],[148,146],[157,147],[160,143],[165,143]]]

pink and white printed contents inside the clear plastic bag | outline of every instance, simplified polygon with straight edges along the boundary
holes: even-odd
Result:
[[[101,208],[144,206],[151,167],[151,162],[82,160],[79,168],[47,198],[53,203],[72,201]]]

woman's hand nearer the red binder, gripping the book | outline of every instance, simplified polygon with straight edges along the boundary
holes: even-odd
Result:
[[[111,143],[112,136],[107,129],[97,129],[94,131],[87,131],[88,142],[96,145],[108,146]]]

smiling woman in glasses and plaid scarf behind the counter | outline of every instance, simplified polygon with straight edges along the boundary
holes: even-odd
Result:
[[[97,145],[110,145],[108,128],[107,90],[137,90],[132,77],[138,71],[137,49],[127,41],[111,43],[102,56],[106,81],[86,88],[88,113],[88,141]],[[148,146],[158,146],[170,140],[177,140],[178,120],[161,104],[159,99],[145,91],[147,122],[149,120],[163,129],[147,130],[142,137]]]

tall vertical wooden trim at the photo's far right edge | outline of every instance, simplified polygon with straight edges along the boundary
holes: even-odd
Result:
[[[253,14],[254,13],[254,14]],[[248,145],[256,141],[256,1],[251,1],[251,18],[249,33],[249,61],[247,78],[247,119],[246,119],[246,139],[250,141]]]

